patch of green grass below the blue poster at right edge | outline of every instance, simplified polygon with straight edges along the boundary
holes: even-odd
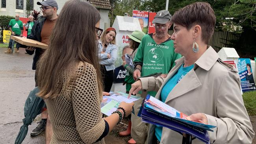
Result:
[[[249,116],[256,116],[256,90],[243,93],[243,102]]]

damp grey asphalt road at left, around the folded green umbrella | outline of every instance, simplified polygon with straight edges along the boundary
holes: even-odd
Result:
[[[6,48],[0,48],[0,144],[14,144],[24,118],[24,103],[30,90],[35,87],[32,70],[33,55],[20,53],[4,54]],[[37,126],[36,118],[28,128],[28,134],[22,144],[43,144],[45,134],[30,137]]]

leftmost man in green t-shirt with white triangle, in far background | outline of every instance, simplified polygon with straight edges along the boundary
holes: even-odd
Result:
[[[23,23],[19,19],[20,19],[20,16],[18,14],[15,15],[15,19],[10,20],[8,28],[11,31],[11,35],[22,37],[22,34],[23,34]],[[8,49],[5,52],[6,54],[13,53],[12,50],[11,50],[12,43],[13,43],[13,40],[10,39]],[[19,52],[19,48],[20,48],[20,44],[17,42],[16,49],[15,49],[16,53],[20,53]]]

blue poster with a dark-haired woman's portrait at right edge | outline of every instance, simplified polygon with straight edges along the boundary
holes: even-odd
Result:
[[[256,90],[250,59],[239,58],[237,62],[237,69],[241,79],[241,88],[243,92]]]

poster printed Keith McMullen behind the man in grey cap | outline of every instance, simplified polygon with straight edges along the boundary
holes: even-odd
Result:
[[[133,10],[132,17],[136,17],[139,19],[141,31],[143,31],[145,34],[147,34],[148,33],[148,12]]]

